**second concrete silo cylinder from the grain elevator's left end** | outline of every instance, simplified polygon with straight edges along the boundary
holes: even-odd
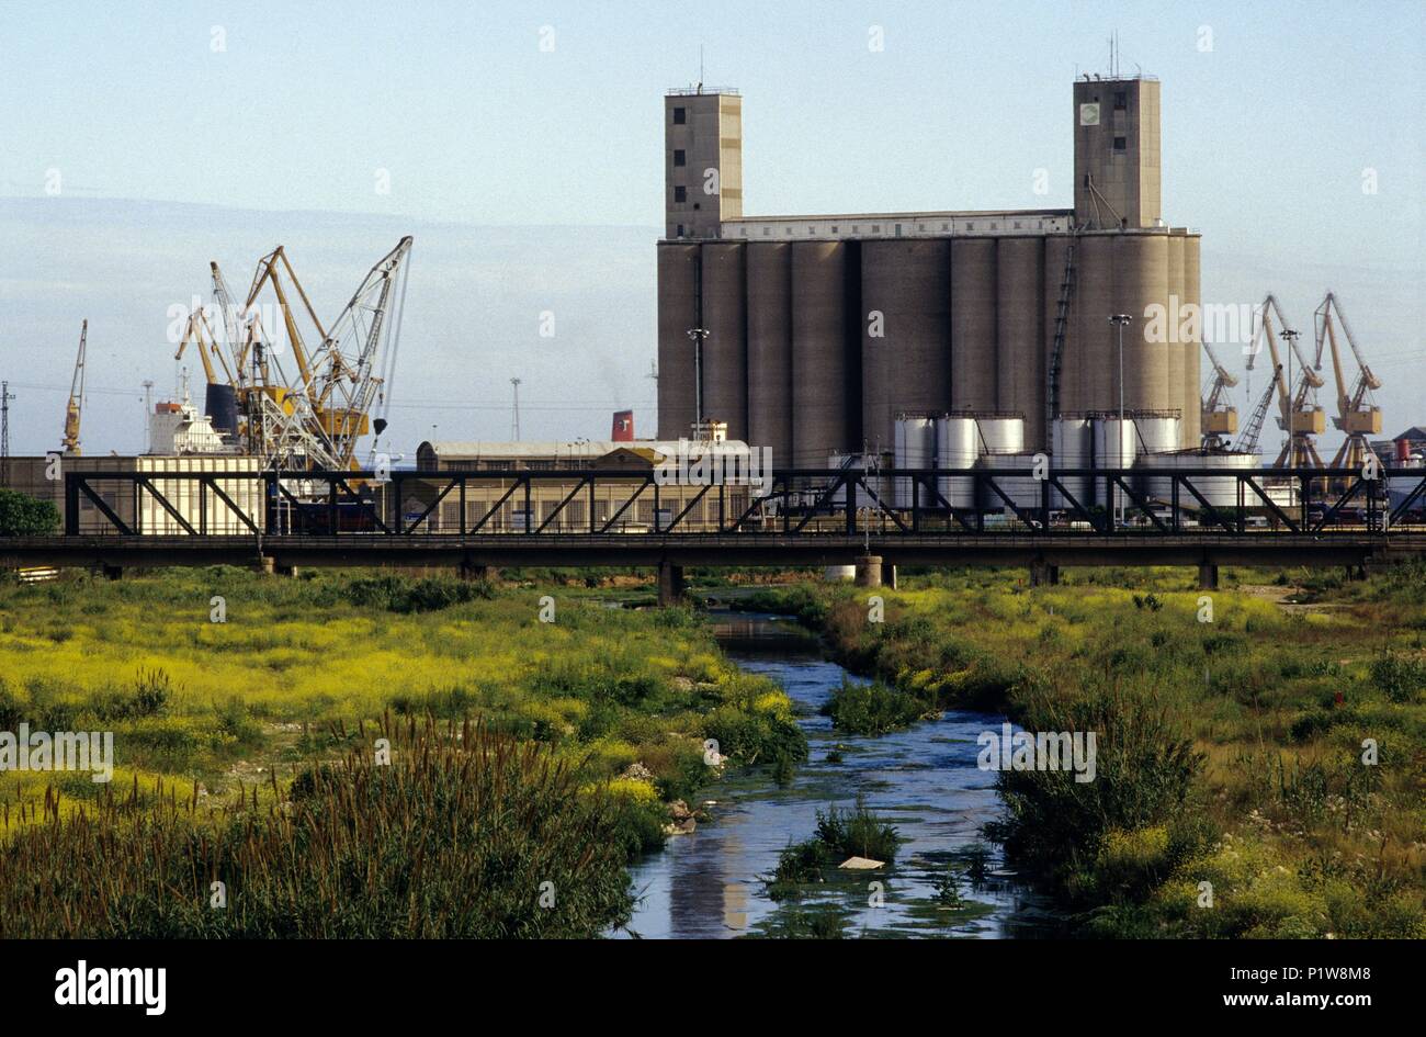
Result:
[[[703,417],[727,422],[729,439],[747,439],[746,245],[703,247]],[[690,344],[692,347],[692,344]]]

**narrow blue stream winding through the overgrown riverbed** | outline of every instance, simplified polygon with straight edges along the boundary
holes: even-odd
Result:
[[[809,907],[837,911],[847,936],[1014,937],[1050,930],[1047,906],[1002,870],[994,847],[990,874],[974,884],[964,879],[980,827],[1000,812],[994,775],[975,766],[975,737],[998,730],[1002,717],[948,712],[880,737],[837,735],[819,710],[843,678],[857,678],[827,662],[816,638],[777,616],[716,611],[710,620],[733,662],[787,690],[811,756],[786,787],[766,769],[709,786],[702,795],[712,820],[672,837],[662,853],[632,869],[642,897],[629,924],[633,933],[759,934]],[[829,760],[829,752],[838,752],[840,762]],[[780,907],[764,893],[777,854],[816,833],[819,809],[851,807],[858,796],[906,840],[896,860],[876,872],[838,872]],[[963,874],[963,903],[954,907],[937,897],[948,866]]]

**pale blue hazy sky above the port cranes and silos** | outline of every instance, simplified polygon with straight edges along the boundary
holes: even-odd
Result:
[[[616,405],[652,432],[662,94],[700,48],[744,98],[750,215],[1070,207],[1070,84],[1111,33],[1162,80],[1165,215],[1204,234],[1205,301],[1272,290],[1310,327],[1333,288],[1387,432],[1426,422],[1420,0],[6,3],[11,449],[56,445],[81,317],[86,438],[131,451],[210,258],[245,285],[281,241],[334,314],[405,233],[406,446],[506,438],[516,375],[525,438],[603,438]]]

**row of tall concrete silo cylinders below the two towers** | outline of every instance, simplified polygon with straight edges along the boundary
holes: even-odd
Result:
[[[1060,412],[1119,405],[1109,314],[1127,312],[1124,407],[1178,412],[1198,444],[1199,342],[1145,342],[1145,308],[1196,304],[1196,235],[659,245],[659,435],[694,421],[690,330],[703,332],[703,415],[770,446],[777,466],[888,451],[906,411],[1015,412],[1048,449],[1047,371],[1067,258]],[[1176,335],[1174,337],[1176,338]]]

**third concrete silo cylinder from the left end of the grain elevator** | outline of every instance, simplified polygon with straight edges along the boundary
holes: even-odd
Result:
[[[747,247],[747,442],[791,468],[793,247]]]

